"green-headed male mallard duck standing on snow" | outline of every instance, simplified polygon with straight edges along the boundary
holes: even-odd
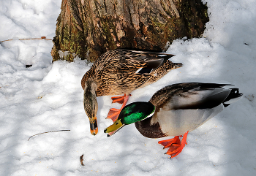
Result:
[[[121,127],[135,123],[144,137],[175,136],[159,141],[170,158],[187,144],[189,131],[197,129],[243,95],[238,88],[222,88],[228,84],[179,83],[154,93],[149,102],[134,102],[121,110],[118,119],[105,129],[108,137]],[[183,135],[180,141],[179,137]]]

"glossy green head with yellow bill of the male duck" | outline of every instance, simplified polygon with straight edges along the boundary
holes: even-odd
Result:
[[[108,137],[112,136],[125,125],[143,120],[154,114],[155,107],[150,102],[134,102],[125,106],[113,125],[104,130]]]

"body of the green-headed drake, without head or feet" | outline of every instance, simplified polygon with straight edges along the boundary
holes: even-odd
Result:
[[[237,88],[222,88],[225,84],[181,83],[168,85],[151,97],[156,107],[151,118],[135,123],[145,137],[179,136],[197,129],[213,118],[233,99],[242,96]]]

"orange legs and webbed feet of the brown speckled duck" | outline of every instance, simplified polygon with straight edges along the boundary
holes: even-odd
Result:
[[[116,121],[116,119],[118,118],[118,115],[120,114],[121,110],[126,106],[128,99],[129,99],[130,95],[126,95],[124,94],[124,96],[114,96],[111,99],[113,100],[112,103],[120,103],[122,104],[120,109],[116,109],[116,108],[111,108],[110,111],[108,112],[108,117],[107,118],[111,118],[111,120]]]

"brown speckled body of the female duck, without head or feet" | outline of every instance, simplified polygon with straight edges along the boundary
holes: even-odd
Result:
[[[159,56],[159,54],[135,50],[108,51],[84,74],[81,80],[82,88],[84,89],[86,80],[90,77],[97,83],[97,96],[128,94],[137,88],[154,83],[171,69],[182,66],[180,63],[167,60],[173,55]],[[150,61],[157,61],[159,67],[153,68],[150,73],[138,72],[138,69],[146,68]]]

